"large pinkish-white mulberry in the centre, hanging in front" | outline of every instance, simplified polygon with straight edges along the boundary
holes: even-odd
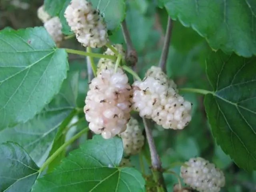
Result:
[[[105,139],[124,132],[130,118],[132,90],[123,70],[102,70],[89,88],[84,112],[90,130]]]

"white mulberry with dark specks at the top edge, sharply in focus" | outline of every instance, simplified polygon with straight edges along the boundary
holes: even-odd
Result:
[[[100,48],[108,42],[108,33],[103,17],[86,0],[72,0],[64,16],[78,42],[83,46]]]

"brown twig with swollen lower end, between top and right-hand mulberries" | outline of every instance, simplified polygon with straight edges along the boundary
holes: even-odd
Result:
[[[133,47],[132,40],[130,38],[130,34],[129,34],[125,20],[123,20],[121,26],[122,26],[122,32],[124,35],[124,40],[125,40],[126,46],[127,46],[126,61],[129,66],[135,66],[138,61],[138,55],[137,55],[136,50]]]

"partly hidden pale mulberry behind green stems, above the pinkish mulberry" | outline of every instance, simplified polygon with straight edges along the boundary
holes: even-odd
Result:
[[[125,50],[123,49],[123,46],[121,44],[114,44],[112,45],[112,47],[114,49],[116,49],[118,51],[119,54],[123,55],[123,59],[125,57]],[[107,50],[104,52],[105,55],[112,55],[114,56],[114,52],[110,49],[107,48]],[[98,69],[97,69],[97,73],[100,73],[100,71],[102,69],[106,69],[106,68],[111,68],[114,67],[115,62],[111,59],[105,59],[105,58],[100,58],[99,62],[98,62]]]

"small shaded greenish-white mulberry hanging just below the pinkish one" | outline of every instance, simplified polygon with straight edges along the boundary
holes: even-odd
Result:
[[[120,134],[123,141],[124,153],[128,156],[138,154],[144,145],[144,136],[138,121],[130,118],[127,128]]]

